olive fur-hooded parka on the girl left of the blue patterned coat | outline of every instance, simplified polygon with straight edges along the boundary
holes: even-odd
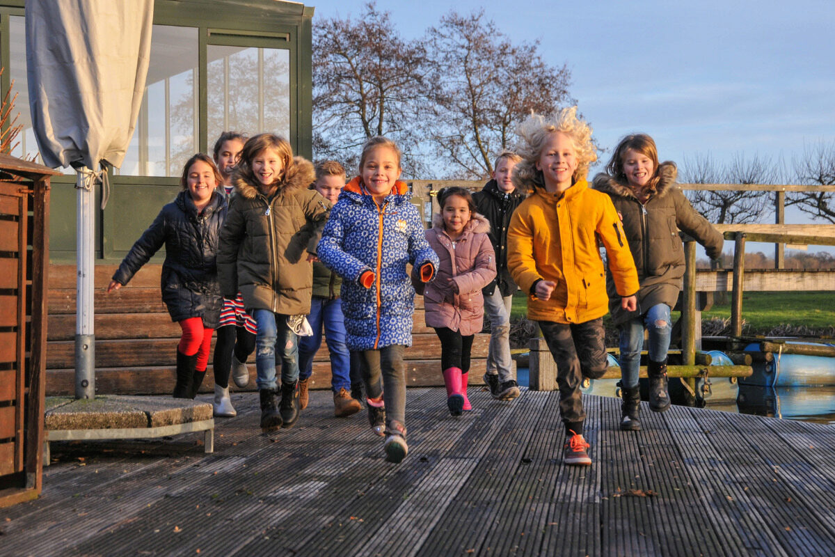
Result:
[[[313,269],[307,256],[316,254],[331,203],[307,189],[315,178],[313,165],[301,157],[293,163],[272,200],[251,172],[235,174],[217,266],[224,296],[234,299],[240,291],[248,310],[310,312]]]

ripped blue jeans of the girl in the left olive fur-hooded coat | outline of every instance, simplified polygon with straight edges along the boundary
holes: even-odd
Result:
[[[276,352],[281,357],[281,382],[292,384],[299,379],[299,343],[296,333],[287,327],[287,316],[270,310],[253,310],[258,323],[256,334],[256,386],[276,388]]]

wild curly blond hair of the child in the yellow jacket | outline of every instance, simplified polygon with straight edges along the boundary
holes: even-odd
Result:
[[[517,129],[521,138],[517,153],[522,156],[522,161],[514,167],[514,185],[520,190],[533,191],[536,186],[544,187],[542,171],[536,170],[536,162],[551,134],[558,132],[567,135],[574,144],[577,169],[571,176],[572,183],[584,180],[589,174],[589,165],[597,160],[597,147],[591,140],[591,126],[577,118],[577,107],[547,116],[531,114]]]

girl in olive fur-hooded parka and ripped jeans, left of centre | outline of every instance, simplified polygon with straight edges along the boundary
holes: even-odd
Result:
[[[307,186],[313,165],[293,157],[286,139],[247,139],[235,171],[236,193],[220,233],[220,290],[238,291],[255,317],[256,385],[261,429],[290,428],[299,417],[297,332],[310,311],[312,267],[331,204]],[[281,409],[276,409],[276,351],[281,357]]]

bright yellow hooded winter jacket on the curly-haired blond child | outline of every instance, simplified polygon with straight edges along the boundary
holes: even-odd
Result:
[[[583,323],[606,314],[609,298],[600,241],[618,294],[632,296],[639,288],[638,273],[609,195],[590,190],[585,180],[562,194],[534,188],[508,230],[508,268],[529,295],[529,319]],[[557,283],[549,300],[530,295],[537,279]]]

